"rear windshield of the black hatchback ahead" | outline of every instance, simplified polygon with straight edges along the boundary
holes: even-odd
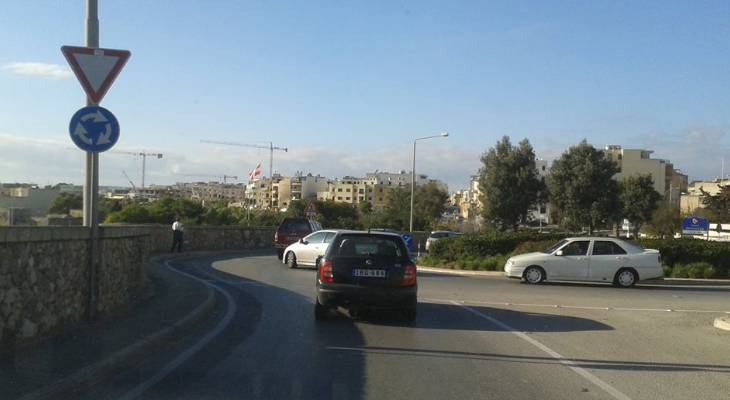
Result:
[[[395,236],[342,235],[333,245],[333,256],[386,256],[402,258],[408,254],[403,245],[403,240]]]

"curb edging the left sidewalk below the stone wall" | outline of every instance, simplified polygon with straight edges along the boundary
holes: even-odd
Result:
[[[161,257],[154,257],[151,262],[158,262]],[[28,393],[19,398],[19,400],[36,400],[48,398],[69,398],[69,396],[80,387],[90,386],[95,382],[99,382],[109,377],[124,365],[133,365],[136,360],[144,358],[150,352],[153,352],[162,343],[174,337],[177,333],[187,330],[193,325],[204,319],[210,311],[215,307],[215,292],[209,286],[206,286],[208,296],[205,301],[197,306],[188,315],[175,322],[174,324],[163,328],[137,342],[118,350],[107,358],[97,361],[94,364],[81,368],[69,376],[52,383],[43,389]]]

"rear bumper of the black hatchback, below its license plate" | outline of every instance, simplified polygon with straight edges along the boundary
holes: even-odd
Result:
[[[326,307],[407,307],[415,304],[418,286],[372,287],[328,284],[317,287],[317,298]]]

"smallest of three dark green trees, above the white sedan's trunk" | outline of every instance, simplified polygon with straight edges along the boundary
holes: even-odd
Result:
[[[644,223],[651,221],[661,197],[654,190],[654,180],[650,174],[632,175],[624,179],[621,184],[623,215],[634,225],[634,237],[638,236]]]

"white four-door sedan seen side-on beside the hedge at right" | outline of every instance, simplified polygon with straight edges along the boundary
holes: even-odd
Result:
[[[658,250],[605,237],[567,238],[544,252],[510,257],[504,273],[533,284],[570,280],[611,282],[620,287],[664,276]]]

